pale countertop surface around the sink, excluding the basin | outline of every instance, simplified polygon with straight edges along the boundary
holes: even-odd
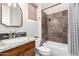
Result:
[[[8,39],[9,40],[9,39]],[[3,41],[0,41],[0,52],[4,52],[6,50],[9,50],[9,49],[12,49],[12,48],[15,48],[15,47],[18,47],[20,45],[23,45],[23,44],[27,44],[27,43],[30,43],[32,41],[34,41],[35,39],[30,37],[28,38],[28,40],[24,40],[22,42],[17,42],[17,43],[9,43],[9,44],[5,44],[3,43]]]

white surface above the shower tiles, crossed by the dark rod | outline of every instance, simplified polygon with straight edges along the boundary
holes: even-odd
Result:
[[[43,12],[45,12],[47,15],[68,10],[68,3],[61,3],[59,5],[57,4],[58,3],[42,3],[41,8]],[[50,7],[50,6],[54,6],[54,7]]]

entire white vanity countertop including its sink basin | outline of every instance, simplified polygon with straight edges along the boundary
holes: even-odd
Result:
[[[34,37],[18,37],[15,39],[5,39],[0,41],[0,52],[34,41]]]

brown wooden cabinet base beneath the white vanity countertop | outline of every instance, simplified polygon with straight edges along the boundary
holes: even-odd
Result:
[[[0,52],[0,56],[35,56],[35,41]]]

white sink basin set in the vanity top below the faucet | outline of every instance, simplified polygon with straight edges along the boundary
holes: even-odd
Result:
[[[28,37],[20,37],[20,38],[15,38],[15,39],[2,40],[4,44],[19,43],[19,42],[24,42],[24,41],[29,41]]]

